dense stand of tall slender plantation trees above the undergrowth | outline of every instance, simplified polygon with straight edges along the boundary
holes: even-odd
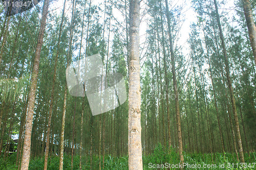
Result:
[[[159,143],[181,163],[184,153],[209,153],[212,160],[233,153],[245,162],[256,148],[256,2],[233,3],[227,11],[221,1],[191,1],[197,22],[188,54],[179,43],[184,4],[177,2],[45,0],[0,15],[2,159],[16,134],[18,169],[37,157],[47,169],[54,156],[65,169],[64,153],[71,169],[77,155],[79,169],[104,169],[108,155],[129,155],[129,169],[142,169],[142,155]],[[228,18],[230,11],[235,15]],[[70,95],[66,82],[66,68],[94,54],[106,74],[122,74],[128,94],[124,104],[96,116],[87,97]]]

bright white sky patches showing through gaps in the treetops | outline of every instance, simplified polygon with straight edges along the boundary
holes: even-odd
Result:
[[[128,0],[127,0],[128,1]],[[227,9],[233,9],[234,8],[234,2],[231,0],[231,1],[227,1],[225,0],[225,5],[222,5],[220,6],[220,9],[219,9],[219,12],[223,12],[223,10],[225,12],[228,12],[228,15],[232,16],[234,14],[234,10],[227,10]],[[64,0],[58,0],[56,2],[53,2],[51,5],[50,5],[50,13],[61,13],[61,10],[63,8],[63,2]],[[101,9],[102,9],[102,18],[100,18],[100,20],[102,20],[103,22],[103,10],[104,10],[104,1],[100,1],[100,0],[92,0],[92,5],[99,5],[101,4]],[[140,10],[140,13],[142,14],[143,10],[145,9],[145,2],[146,0],[142,1],[141,2],[141,10]],[[191,1],[190,0],[182,0],[182,1],[179,1],[179,0],[174,0],[174,1],[169,1],[170,3],[170,6],[169,6],[169,9],[172,9],[172,5],[173,6],[181,6],[183,5],[183,10],[182,10],[182,13],[184,14],[184,22],[182,23],[182,27],[181,27],[181,30],[180,30],[180,33],[179,33],[179,41],[178,42],[175,42],[177,43],[177,45],[179,46],[183,46],[183,55],[184,56],[187,56],[189,54],[189,45],[187,43],[187,39],[189,38],[189,32],[190,32],[190,25],[191,23],[193,22],[196,22],[197,21],[197,18],[196,18],[196,13],[191,5]],[[89,0],[87,1],[87,3],[89,3]],[[87,4],[88,6],[88,4]],[[71,9],[72,8],[72,4],[71,4],[71,1],[70,0],[67,0],[67,4],[66,4],[66,16],[70,16],[71,15]],[[146,7],[148,8],[148,7]],[[55,10],[56,9],[56,10]],[[127,9],[129,10],[129,8]],[[129,12],[129,11],[127,11]],[[113,14],[114,14],[114,17],[117,18],[120,23],[123,23],[124,24],[124,18],[121,16],[121,13],[114,9],[113,7]],[[82,15],[81,15],[82,16]],[[145,15],[145,17],[142,18],[141,20],[141,24],[140,24],[140,44],[143,44],[145,42],[145,33],[146,33],[146,29],[147,29],[147,23],[146,23],[146,19],[148,18],[148,15]],[[113,23],[114,21],[112,21]],[[232,23],[231,23],[232,25]],[[84,35],[85,37],[86,35]],[[107,36],[107,34],[105,34],[105,36]],[[111,41],[113,40],[113,37],[114,37],[114,34],[112,33],[111,34]],[[85,40],[83,40],[83,42],[85,42]],[[176,45],[176,44],[174,44]],[[110,45],[111,46],[111,45]],[[141,51],[140,53],[145,53],[145,50]],[[142,61],[143,62],[143,61]]]

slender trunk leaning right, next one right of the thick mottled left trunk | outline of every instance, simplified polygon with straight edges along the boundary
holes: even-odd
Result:
[[[50,99],[50,108],[49,108],[49,116],[48,116],[48,124],[47,124],[47,133],[46,133],[46,151],[45,151],[45,165],[44,170],[47,170],[47,162],[48,162],[48,155],[49,155],[49,142],[50,142],[50,129],[51,129],[51,120],[52,120],[52,108],[53,108],[53,101],[54,101],[54,86],[56,81],[56,72],[57,72],[57,63],[58,63],[58,55],[59,55],[59,44],[60,38],[62,34],[62,25],[65,16],[65,6],[66,0],[64,1],[61,22],[59,26],[59,35],[58,35],[58,43],[57,43],[57,51],[54,61],[54,70],[53,70],[53,80],[52,80],[52,91],[51,91],[51,99]]]

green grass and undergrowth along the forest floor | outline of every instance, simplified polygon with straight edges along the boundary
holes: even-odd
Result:
[[[236,154],[232,153],[217,153],[215,155],[211,154],[201,154],[201,153],[185,153],[184,152],[184,163],[183,169],[256,169],[256,164],[253,166],[252,163],[256,163],[256,153],[251,153],[250,157],[246,153],[245,164],[240,164],[237,162]],[[102,156],[101,156],[102,159]],[[12,170],[17,169],[15,166],[16,154],[10,155],[6,160],[0,158],[0,169]],[[250,163],[250,164],[249,164]],[[101,167],[102,167],[101,160]],[[150,155],[143,156],[143,169],[177,169],[179,164],[179,154],[175,149],[170,149],[169,151],[162,147],[161,144],[155,148],[154,152]],[[82,169],[90,169],[90,155],[82,156]],[[216,166],[215,166],[216,165]],[[48,161],[48,168],[50,170],[56,170],[59,166],[59,157],[52,156]],[[161,167],[162,166],[162,167]],[[168,168],[168,167],[170,168]],[[190,166],[190,167],[189,167]],[[200,168],[199,168],[200,166]],[[248,167],[250,166],[250,167]],[[174,167],[174,168],[172,168]],[[30,160],[29,170],[40,170],[44,169],[44,157],[36,157]],[[71,169],[71,156],[65,154],[63,159],[63,169]],[[74,157],[73,169],[79,169],[79,155]],[[92,158],[92,169],[99,169],[99,157],[93,156]],[[128,157],[112,157],[105,156],[104,169],[109,170],[128,170]]]

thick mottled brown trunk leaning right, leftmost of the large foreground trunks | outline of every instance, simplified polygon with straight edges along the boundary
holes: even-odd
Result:
[[[36,50],[35,50],[34,68],[32,72],[32,82],[31,82],[30,93],[29,93],[29,105],[28,105],[28,112],[27,112],[24,145],[23,145],[22,165],[20,168],[22,170],[26,170],[29,168],[31,131],[32,131],[32,121],[33,121],[33,114],[34,114],[37,77],[38,77],[38,71],[39,71],[41,47],[42,47],[42,42],[44,39],[44,33],[45,33],[45,27],[46,27],[48,7],[49,7],[49,0],[45,0],[44,8],[42,9],[42,18],[40,23],[40,30],[39,30]]]

